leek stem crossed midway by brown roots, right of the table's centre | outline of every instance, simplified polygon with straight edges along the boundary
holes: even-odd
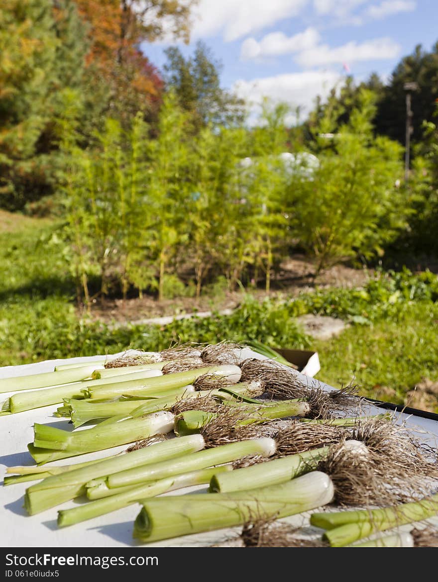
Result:
[[[248,418],[240,420],[238,425],[261,424],[267,420],[275,418],[285,418],[289,416],[305,416],[310,411],[310,406],[305,400],[281,400],[281,402],[263,405],[262,402],[252,411],[250,405],[241,404],[243,411],[248,411]],[[199,432],[213,418],[217,418],[218,413],[205,412],[203,410],[186,410],[175,420],[175,434],[187,435]]]

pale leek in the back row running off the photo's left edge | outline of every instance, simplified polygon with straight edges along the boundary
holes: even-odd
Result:
[[[62,372],[50,372],[51,374],[62,374]],[[160,370],[142,370],[138,372],[143,379],[138,380],[144,383],[147,378],[153,378],[158,375],[162,375]],[[126,374],[128,377],[129,374]],[[128,384],[126,377],[118,378],[118,385]],[[84,398],[84,390],[87,389],[89,384],[96,386],[103,386],[105,384],[112,383],[112,378],[103,378],[101,380],[87,380],[85,382],[73,382],[72,384],[65,384],[63,386],[55,388],[45,388],[42,390],[36,390],[33,392],[20,392],[19,394],[14,394],[10,396],[8,400],[3,404],[2,410],[8,411],[10,413],[23,412],[24,410],[32,410],[35,408],[40,408],[42,406],[50,406],[51,404],[58,404],[62,402],[64,398]],[[123,389],[121,389],[123,393]]]

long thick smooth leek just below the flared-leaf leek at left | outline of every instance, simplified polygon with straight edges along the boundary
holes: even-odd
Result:
[[[45,509],[55,507],[59,503],[74,499],[84,494],[85,484],[94,478],[105,477],[116,471],[139,467],[148,463],[158,463],[165,459],[173,459],[180,455],[189,455],[204,447],[201,435],[169,439],[133,450],[123,455],[115,455],[100,460],[91,466],[82,466],[64,473],[48,477],[27,488],[24,496],[24,506],[33,515]]]

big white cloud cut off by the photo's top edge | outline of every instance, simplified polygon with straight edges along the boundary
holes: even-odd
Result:
[[[193,38],[221,34],[233,41],[297,16],[309,0],[200,0],[193,10]]]

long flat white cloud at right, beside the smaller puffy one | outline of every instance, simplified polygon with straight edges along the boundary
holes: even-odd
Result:
[[[295,60],[303,67],[315,67],[333,63],[393,59],[400,51],[400,45],[391,38],[375,38],[360,44],[351,41],[335,48],[319,45],[302,51]]]

